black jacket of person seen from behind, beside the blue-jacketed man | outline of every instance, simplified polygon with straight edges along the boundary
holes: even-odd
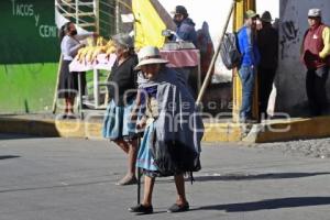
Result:
[[[270,24],[257,32],[257,48],[262,68],[277,68],[278,65],[278,32]]]

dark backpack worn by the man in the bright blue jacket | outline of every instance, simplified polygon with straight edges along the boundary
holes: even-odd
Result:
[[[226,33],[220,45],[222,63],[228,69],[233,69],[241,65],[242,54],[238,47],[238,36],[235,33]]]

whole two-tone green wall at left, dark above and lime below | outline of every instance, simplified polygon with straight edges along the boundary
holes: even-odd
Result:
[[[52,111],[59,42],[54,0],[0,0],[0,113]]]

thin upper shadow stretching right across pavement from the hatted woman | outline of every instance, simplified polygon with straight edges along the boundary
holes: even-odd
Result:
[[[196,182],[230,182],[230,180],[257,180],[257,179],[282,179],[282,178],[302,178],[330,173],[273,173],[273,174],[227,174],[221,176],[196,176]]]

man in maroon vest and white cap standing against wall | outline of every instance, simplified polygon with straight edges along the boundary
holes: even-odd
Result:
[[[308,11],[309,29],[301,45],[301,61],[307,67],[306,91],[311,117],[328,111],[326,84],[330,67],[330,29],[322,23],[320,9]]]

